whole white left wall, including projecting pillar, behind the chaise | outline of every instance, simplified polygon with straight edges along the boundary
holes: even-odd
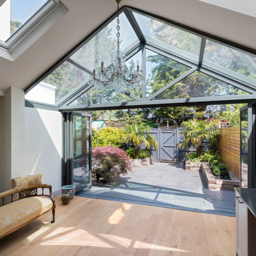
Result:
[[[0,97],[0,192],[11,179],[43,174],[52,191],[61,189],[62,117],[58,111],[25,107],[24,91],[10,87]]]

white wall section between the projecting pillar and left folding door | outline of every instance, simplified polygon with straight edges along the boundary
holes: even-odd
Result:
[[[25,173],[42,173],[52,191],[61,188],[61,113],[25,107]]]

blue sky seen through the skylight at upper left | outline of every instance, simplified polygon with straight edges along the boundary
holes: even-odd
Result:
[[[11,0],[11,20],[25,23],[48,0]]]

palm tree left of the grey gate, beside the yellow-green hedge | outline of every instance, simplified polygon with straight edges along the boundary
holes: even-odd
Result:
[[[156,138],[148,134],[151,131],[149,125],[144,124],[135,124],[135,125],[126,125],[125,132],[124,132],[124,140],[125,143],[133,143],[136,155],[139,151],[139,146],[145,143],[147,148],[154,146],[156,150],[158,148],[158,144]]]

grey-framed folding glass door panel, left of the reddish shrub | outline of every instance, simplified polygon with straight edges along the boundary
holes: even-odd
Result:
[[[73,154],[71,180],[76,191],[91,186],[91,116],[84,113],[72,113]]]

